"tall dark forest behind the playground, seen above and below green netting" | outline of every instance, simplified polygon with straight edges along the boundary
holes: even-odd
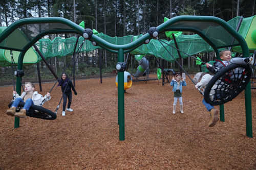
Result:
[[[216,16],[228,21],[236,16],[250,17],[255,15],[255,0],[0,0],[0,27],[8,27],[11,23],[23,18],[36,17],[63,17],[79,25],[84,21],[85,27],[95,29],[111,37],[123,37],[127,35],[139,35],[147,33],[151,27],[157,27],[163,23],[164,17],[172,18],[180,15]],[[183,34],[193,34],[183,32]],[[43,38],[53,40],[56,36],[69,38],[73,34],[49,35]],[[159,35],[160,39],[170,40],[165,34]],[[103,74],[108,74],[115,69],[117,55],[96,50],[95,52],[81,53],[76,63],[76,75],[99,75],[99,54],[101,54],[101,67]],[[66,67],[72,56],[51,58],[48,63],[57,74]],[[126,57],[126,56],[125,56]],[[203,61],[215,59],[215,53],[201,53]],[[147,56],[150,61],[150,70],[156,70],[159,65],[154,56]],[[133,62],[134,69],[138,62]],[[178,64],[168,63],[160,59],[163,68],[178,70]],[[189,57],[182,61],[186,71],[197,72],[199,67],[194,67],[195,60]],[[53,78],[45,63],[40,62],[40,72],[45,74],[41,78]],[[71,73],[73,66],[68,67],[67,73]],[[129,72],[132,66],[130,66]],[[9,79],[11,67],[2,67],[0,79]],[[25,77],[37,77],[36,64],[24,67]],[[133,70],[135,72],[136,70]],[[49,73],[49,74],[48,74]]]

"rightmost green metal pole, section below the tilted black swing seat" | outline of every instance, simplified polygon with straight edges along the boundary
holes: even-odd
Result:
[[[252,118],[251,118],[251,81],[245,88],[245,121],[246,136],[252,137]]]

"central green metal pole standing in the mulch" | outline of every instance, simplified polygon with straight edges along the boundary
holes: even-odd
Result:
[[[123,50],[118,50],[118,62],[124,62]],[[124,72],[117,73],[117,93],[118,93],[118,123],[119,123],[119,140],[124,140]]]

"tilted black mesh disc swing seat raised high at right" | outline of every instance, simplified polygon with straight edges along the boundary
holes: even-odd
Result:
[[[245,89],[251,75],[248,64],[230,64],[220,69],[205,88],[205,102],[217,106],[232,101]]]

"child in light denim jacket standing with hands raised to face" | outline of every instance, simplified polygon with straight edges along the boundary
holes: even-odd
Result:
[[[170,82],[170,85],[173,86],[173,91],[174,91],[174,110],[173,110],[173,114],[176,113],[176,104],[179,98],[179,102],[180,102],[180,112],[183,112],[183,104],[182,104],[182,86],[186,86],[186,81],[179,75],[177,74],[172,82]]]

